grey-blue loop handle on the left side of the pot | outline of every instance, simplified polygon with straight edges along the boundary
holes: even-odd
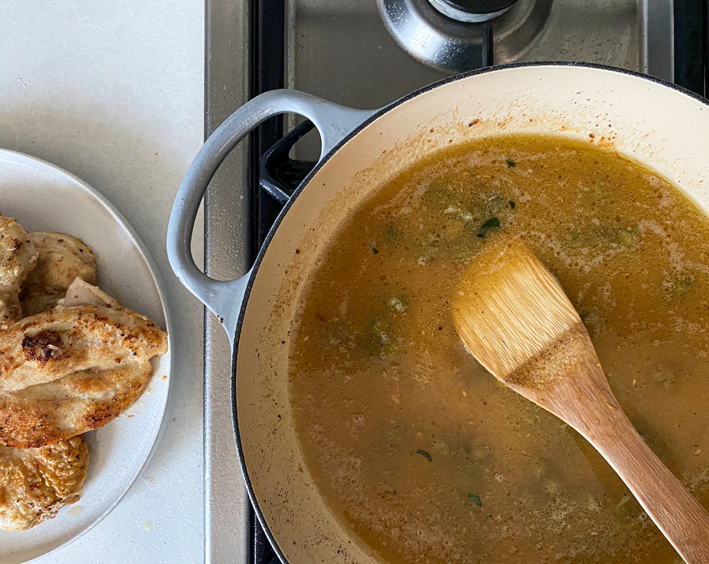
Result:
[[[333,104],[296,90],[272,90],[241,106],[206,140],[180,184],[167,226],[167,258],[175,275],[217,316],[231,343],[251,270],[237,280],[214,280],[194,263],[190,249],[194,221],[204,192],[223,160],[259,123],[277,114],[299,114],[315,123],[320,159],[354,128],[374,114]]]

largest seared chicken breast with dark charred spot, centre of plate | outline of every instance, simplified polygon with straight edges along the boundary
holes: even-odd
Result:
[[[57,306],[0,333],[0,443],[38,448],[104,426],[128,409],[167,351],[134,311]]]

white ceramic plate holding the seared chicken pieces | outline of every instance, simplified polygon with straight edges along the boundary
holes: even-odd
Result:
[[[43,160],[0,149],[0,212],[27,231],[81,238],[96,255],[99,287],[169,333],[162,282],[152,258],[123,216],[88,184]],[[79,501],[29,531],[0,531],[1,563],[22,563],[54,551],[116,507],[162,434],[169,382],[168,351],[155,364],[138,401],[105,427],[86,433],[89,472]]]

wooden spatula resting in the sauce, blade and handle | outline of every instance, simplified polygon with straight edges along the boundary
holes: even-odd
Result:
[[[628,421],[579,314],[530,250],[486,251],[462,280],[453,319],[492,375],[603,455],[688,564],[709,564],[709,514]]]

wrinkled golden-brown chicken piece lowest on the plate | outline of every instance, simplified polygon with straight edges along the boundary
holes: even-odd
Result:
[[[0,529],[24,531],[79,499],[89,470],[84,437],[42,448],[0,446]]]

